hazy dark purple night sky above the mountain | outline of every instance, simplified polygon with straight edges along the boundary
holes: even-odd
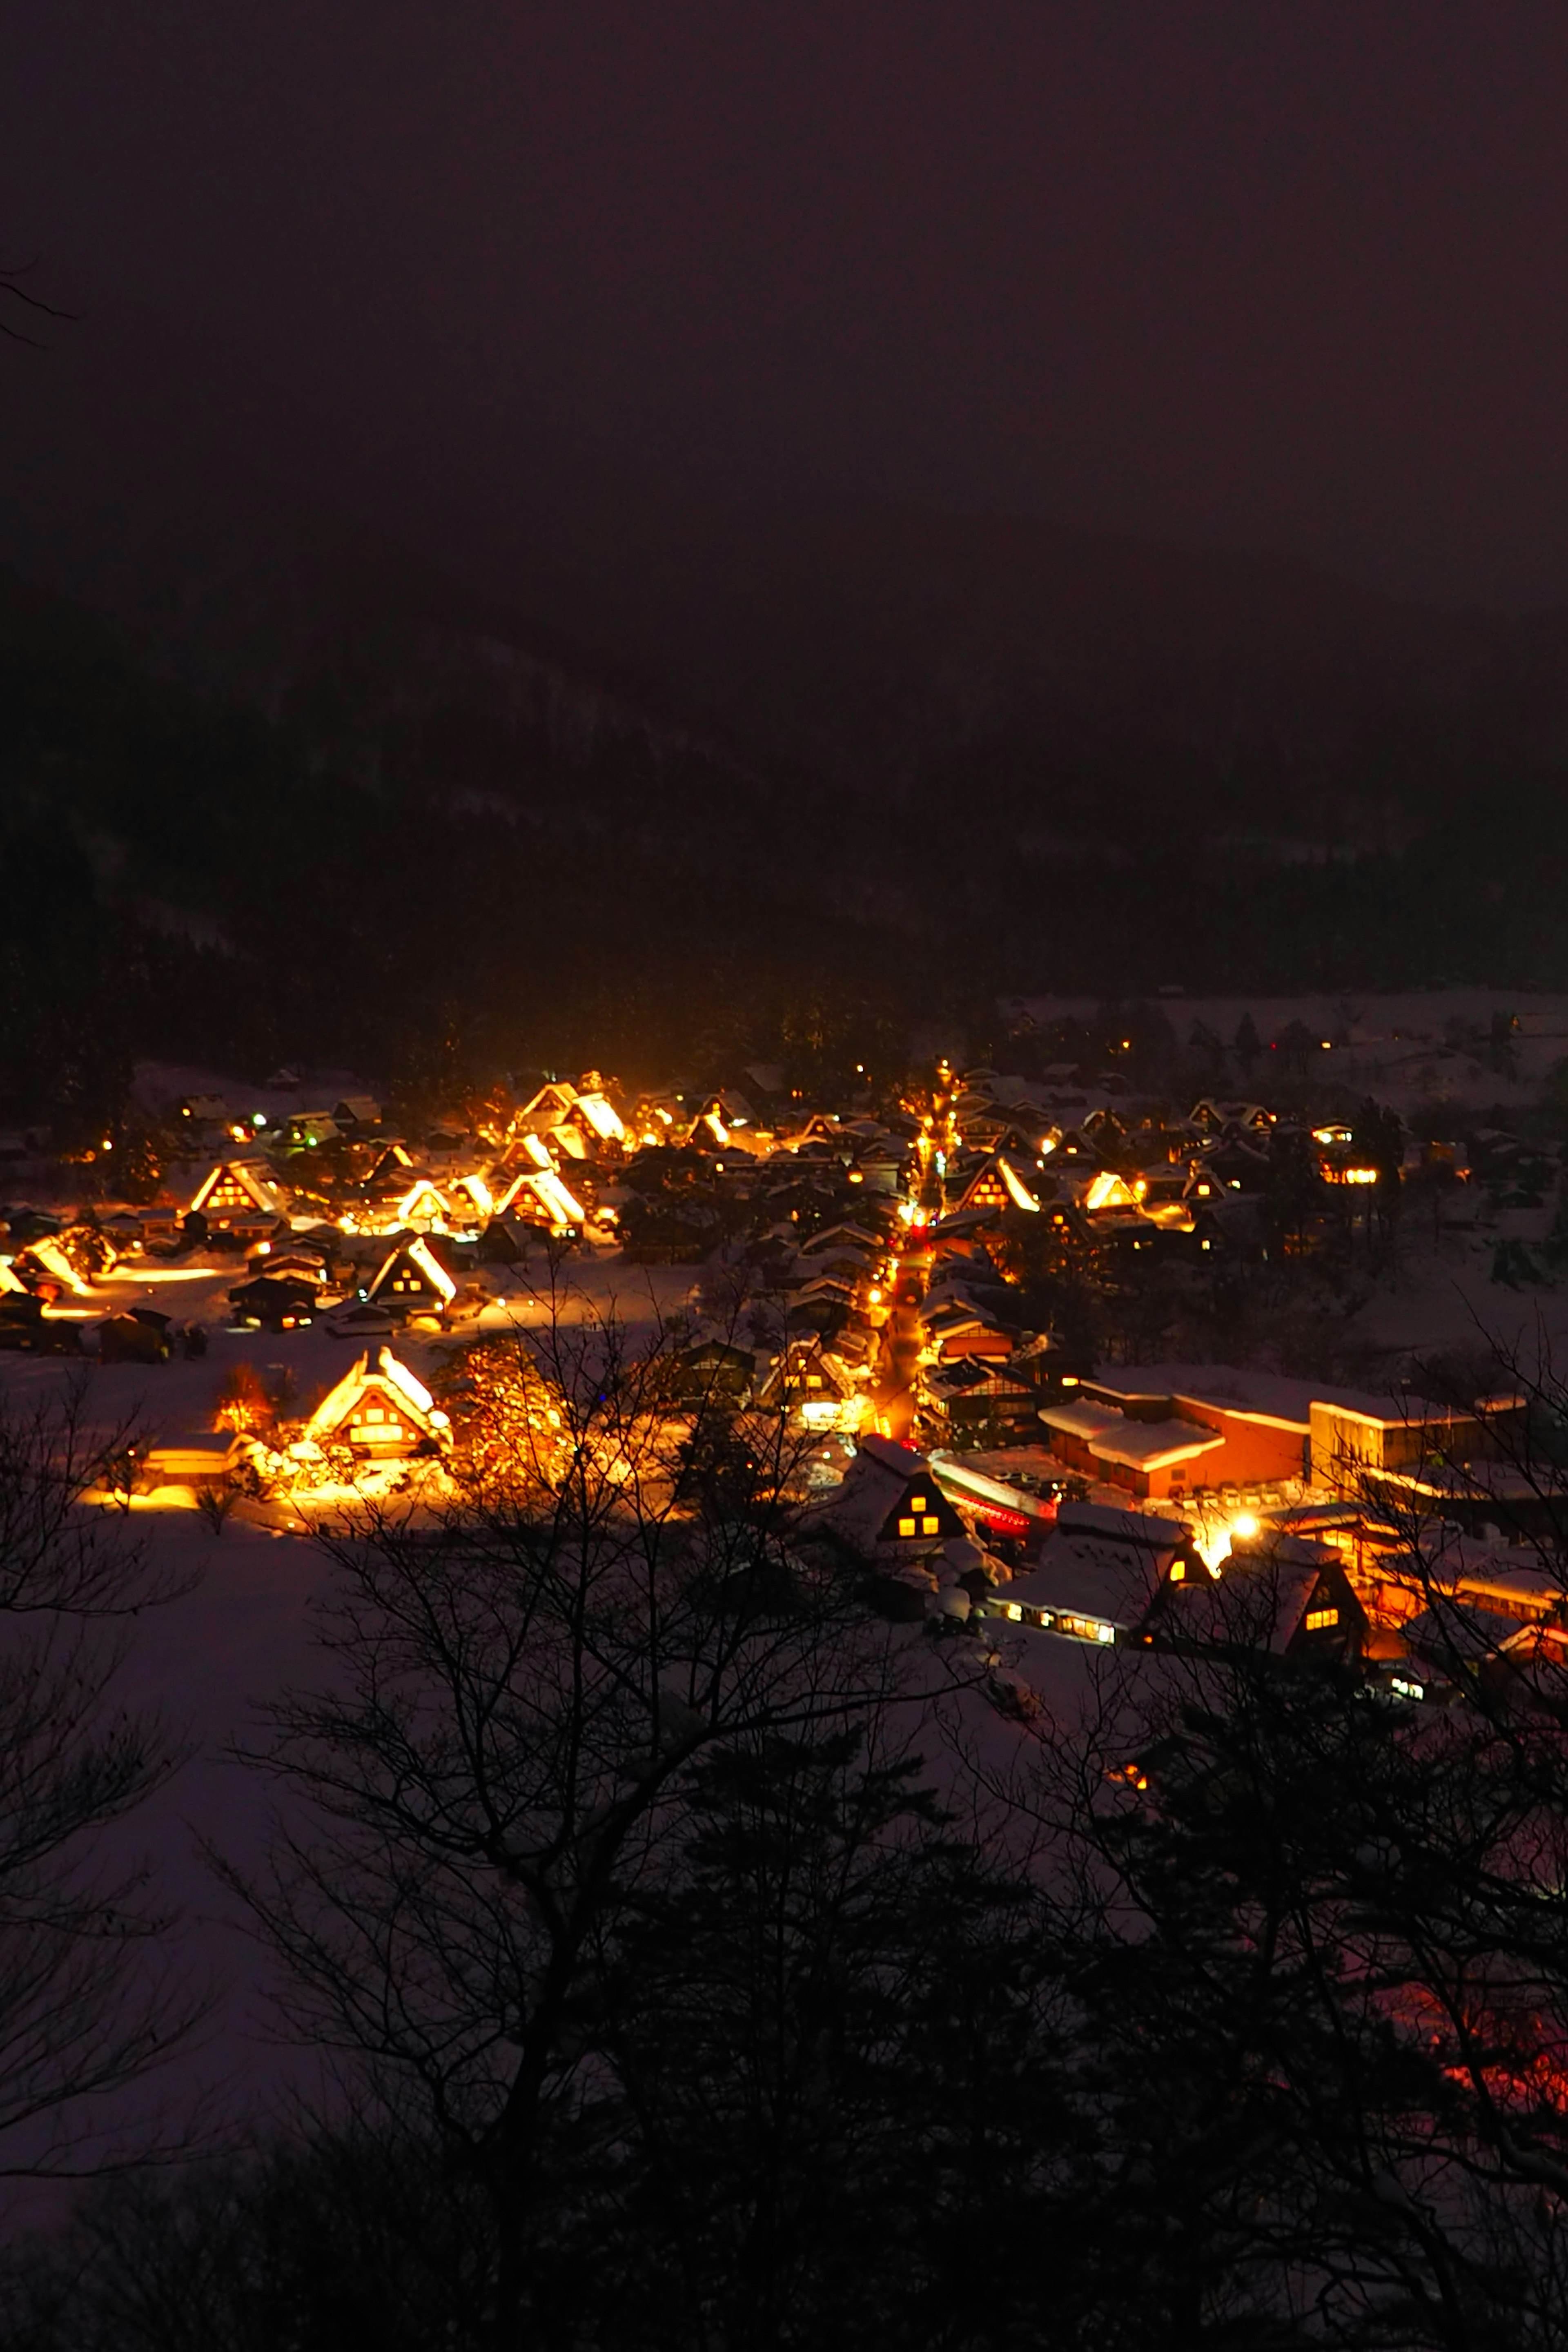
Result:
[[[5,24],[71,334],[141,320],[214,430],[451,548],[618,473],[1568,593],[1563,0]]]

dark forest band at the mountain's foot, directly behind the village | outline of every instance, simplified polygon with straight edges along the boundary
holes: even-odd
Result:
[[[383,1082],[684,1065],[693,1018],[769,1051],[813,995],[907,1025],[1086,974],[1568,983],[1568,818],[1526,760],[1467,746],[1429,807],[1403,776],[1403,847],[1326,866],[1269,847],[1279,779],[1251,830],[1229,779],[1218,833],[1182,779],[1143,741],[1088,764],[1063,741],[849,790],[625,713],[574,736],[494,649],[418,635],[327,647],[242,708],[7,588],[0,1112],[85,1136],[143,1054]]]

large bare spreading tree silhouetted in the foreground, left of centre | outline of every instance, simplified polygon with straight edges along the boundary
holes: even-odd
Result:
[[[693,1444],[722,1399],[686,1341],[557,1287],[520,1341],[552,1402],[529,1390],[517,1477],[329,1538],[329,1689],[277,1708],[256,1757],[280,1830],[240,1891],[287,2013],[480,2183],[496,2345],[524,2336],[559,2150],[595,2105],[599,1955],[672,1867],[693,1771],[842,1731],[903,1682],[797,1526],[785,1421],[726,1411]]]

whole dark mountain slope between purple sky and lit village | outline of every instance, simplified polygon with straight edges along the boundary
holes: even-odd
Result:
[[[0,449],[12,1105],[132,1049],[646,1065],[823,990],[1568,978],[1561,614],[505,482],[437,564],[94,414]]]

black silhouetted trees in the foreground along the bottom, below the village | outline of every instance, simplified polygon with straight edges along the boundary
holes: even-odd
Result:
[[[522,1893],[475,1823],[416,1896],[404,1823],[421,1931],[383,1882],[386,1980],[334,2004],[355,2117],[99,2187],[14,2265],[7,2343],[1561,2343],[1556,1726],[1413,1743],[1239,1661],[1133,1790],[1105,1696],[992,1835],[886,1719],[715,1738],[656,1884],[595,1903],[538,2084]]]

